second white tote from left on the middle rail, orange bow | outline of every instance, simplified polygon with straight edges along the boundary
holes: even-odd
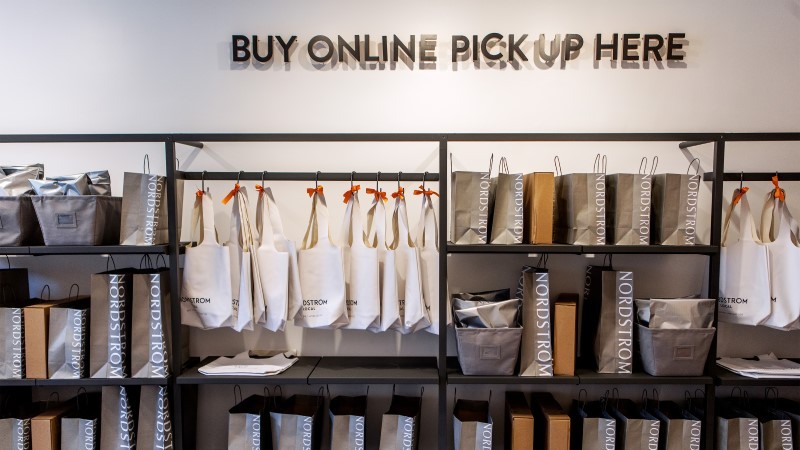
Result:
[[[231,288],[233,289],[234,321],[236,331],[253,329],[253,238],[250,234],[250,215],[247,212],[247,191],[236,183],[223,204],[233,199],[231,232],[228,251],[231,255]]]

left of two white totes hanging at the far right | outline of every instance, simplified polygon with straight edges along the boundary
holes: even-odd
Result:
[[[769,262],[767,248],[758,237],[747,188],[734,191],[725,216],[720,249],[718,311],[720,322],[759,325],[770,314]],[[736,205],[740,204],[739,240],[728,243],[728,229]]]

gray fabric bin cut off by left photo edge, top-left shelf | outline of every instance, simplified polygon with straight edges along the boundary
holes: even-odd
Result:
[[[30,196],[0,196],[0,245],[41,245],[42,231]]]

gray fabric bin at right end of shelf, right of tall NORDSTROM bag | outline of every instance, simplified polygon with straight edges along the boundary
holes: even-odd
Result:
[[[716,328],[671,330],[637,326],[645,372],[657,376],[703,374]]]

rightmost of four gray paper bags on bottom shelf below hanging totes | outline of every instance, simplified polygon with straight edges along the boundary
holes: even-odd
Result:
[[[381,419],[379,450],[417,450],[422,419],[422,397],[392,394]]]

